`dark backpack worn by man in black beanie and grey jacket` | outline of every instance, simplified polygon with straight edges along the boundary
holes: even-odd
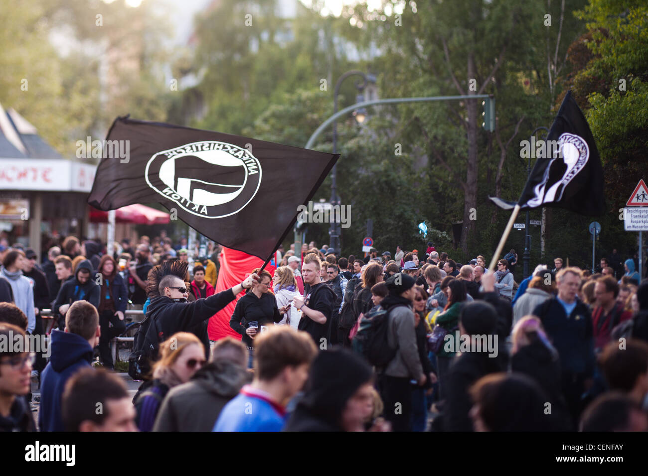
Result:
[[[371,365],[384,368],[396,357],[398,350],[398,346],[389,346],[388,335],[389,312],[378,306],[362,317],[351,344],[354,352],[367,359]]]

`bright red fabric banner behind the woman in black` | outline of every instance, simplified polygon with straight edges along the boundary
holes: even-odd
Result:
[[[218,271],[216,293],[220,293],[220,291],[225,291],[232,286],[240,284],[249,276],[253,269],[263,266],[263,262],[264,260],[257,258],[257,256],[248,255],[248,253],[243,253],[242,251],[223,247],[223,251],[220,253],[220,271]],[[270,273],[270,275],[273,275],[275,272],[275,266],[272,266],[272,262],[268,263],[268,266],[266,266],[265,269]],[[211,341],[218,341],[219,339],[227,337],[227,335],[231,335],[235,339],[240,339],[242,337],[229,326],[229,319],[234,313],[234,308],[236,307],[238,298],[243,294],[244,293],[240,293],[237,296],[237,299],[227,304],[225,308],[214,314],[209,319],[207,332],[209,333],[209,339]]]

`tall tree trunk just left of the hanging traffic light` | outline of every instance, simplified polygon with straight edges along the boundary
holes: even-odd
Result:
[[[475,62],[472,53],[468,56],[468,82],[475,78]],[[476,91],[468,91],[469,95],[475,95]],[[475,231],[475,220],[470,220],[472,209],[477,209],[477,119],[478,119],[477,100],[469,99],[466,101],[466,110],[468,113],[468,161],[466,164],[466,190],[465,202],[463,206],[463,227],[461,230],[461,251],[465,256],[468,255],[469,236]]]

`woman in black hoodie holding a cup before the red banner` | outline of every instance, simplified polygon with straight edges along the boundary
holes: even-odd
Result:
[[[262,332],[266,326],[281,322],[288,306],[279,309],[277,300],[270,292],[272,276],[265,269],[255,268],[252,273],[257,273],[259,282],[248,289],[238,300],[237,307],[229,319],[229,326],[242,335],[241,342],[249,350],[248,367],[252,367],[254,353],[253,339]]]

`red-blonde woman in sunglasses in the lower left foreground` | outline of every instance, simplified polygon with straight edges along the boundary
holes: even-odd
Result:
[[[205,348],[191,332],[176,332],[160,344],[160,359],[153,365],[153,380],[135,403],[135,423],[139,431],[151,431],[167,392],[189,379],[205,365]],[[139,392],[138,392],[139,393]]]

